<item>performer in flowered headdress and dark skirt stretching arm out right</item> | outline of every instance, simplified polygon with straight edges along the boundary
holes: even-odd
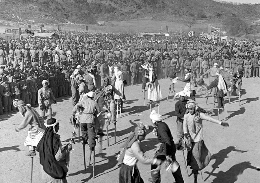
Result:
[[[183,118],[183,131],[188,149],[187,165],[192,168],[194,183],[197,183],[198,171],[205,168],[211,159],[211,154],[203,141],[202,120],[217,123],[225,127],[228,127],[229,123],[213,119],[204,113],[198,112],[196,110],[197,103],[194,101],[187,102],[186,108],[189,112]]]

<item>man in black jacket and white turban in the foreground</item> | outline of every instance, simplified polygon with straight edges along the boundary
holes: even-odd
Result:
[[[155,158],[160,160],[171,159],[172,162],[176,161],[175,152],[176,147],[173,141],[173,137],[168,125],[161,120],[161,115],[156,113],[153,110],[150,114],[150,119],[152,120],[153,126],[155,129],[153,133],[157,135],[157,138],[160,142],[159,147],[157,148]],[[157,165],[152,165],[151,169],[156,169]],[[161,182],[161,175],[160,175],[160,168],[159,171],[152,171],[151,172],[152,178],[148,180],[153,183],[160,183]],[[181,168],[179,167],[176,172],[172,173],[176,183],[183,183],[183,178],[181,175]]]

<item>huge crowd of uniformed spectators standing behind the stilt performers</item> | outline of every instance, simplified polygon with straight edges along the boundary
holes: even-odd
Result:
[[[184,77],[185,68],[196,78],[211,77],[207,71],[213,66],[229,70],[230,75],[243,71],[244,77],[259,77],[260,44],[254,40],[217,42],[187,34],[180,38],[179,32],[168,37],[79,31],[57,34],[59,38],[0,40],[0,114],[15,111],[12,99],[37,106],[36,94],[43,80],[49,81],[55,97],[72,95],[75,105],[82,91],[77,90],[78,78],[71,77],[73,72],[83,78],[90,73],[94,87],[99,88],[118,66],[125,84],[142,83],[145,61],[153,64],[158,79],[177,72]]]

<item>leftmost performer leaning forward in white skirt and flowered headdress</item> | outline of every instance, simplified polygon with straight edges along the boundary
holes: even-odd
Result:
[[[13,100],[13,105],[15,108],[18,108],[20,114],[24,117],[23,122],[15,128],[15,131],[19,132],[20,130],[27,127],[27,125],[31,125],[28,130],[28,135],[25,139],[26,141],[24,145],[29,147],[29,153],[26,155],[35,156],[36,146],[41,140],[46,128],[44,126],[44,120],[33,107],[25,105],[24,101],[22,100]]]

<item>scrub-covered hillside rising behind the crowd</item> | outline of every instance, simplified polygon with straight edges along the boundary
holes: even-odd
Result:
[[[260,5],[227,4],[211,0],[1,0],[0,19],[36,23],[94,24],[143,17],[174,21],[194,18],[222,21],[231,14],[259,19]]]

